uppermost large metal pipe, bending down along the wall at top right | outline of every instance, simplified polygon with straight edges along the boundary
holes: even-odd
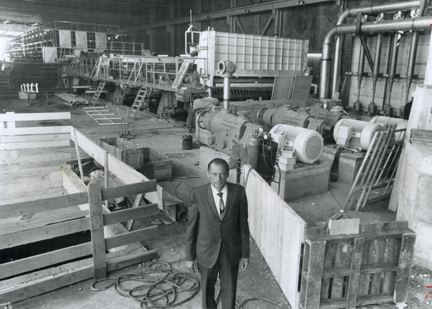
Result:
[[[356,16],[357,13],[377,15],[379,13],[388,13],[388,12],[395,12],[395,11],[407,11],[410,9],[416,9],[420,6],[421,1],[428,2],[430,0],[411,0],[411,1],[404,1],[404,2],[399,1],[399,2],[393,2],[393,3],[369,4],[369,5],[364,5],[364,6],[356,6],[356,7],[348,8],[339,14],[336,25],[342,25],[343,23],[345,23],[345,21],[348,17]],[[355,33],[355,32],[352,32],[352,33]],[[334,44],[335,52],[334,52],[333,79],[332,79],[332,92],[331,92],[332,96],[339,89],[340,64],[342,62],[342,59],[341,59],[341,53],[342,53],[341,42],[342,41],[343,41],[343,34],[342,33],[337,34],[336,41]],[[324,51],[323,51],[323,56],[324,56]],[[322,57],[321,59],[325,60],[324,57]],[[327,70],[329,70],[329,69],[327,69]],[[322,76],[322,73],[323,73],[323,71],[321,71],[321,76]],[[321,77],[321,81],[322,81],[322,77]],[[328,82],[326,82],[326,83],[327,83],[327,87],[328,87]],[[322,86],[322,84],[321,84],[321,86]],[[324,98],[324,97],[321,97],[321,98]]]

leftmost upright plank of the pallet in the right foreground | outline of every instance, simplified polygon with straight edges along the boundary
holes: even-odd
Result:
[[[326,242],[311,242],[310,246],[311,251],[308,263],[308,279],[304,309],[315,309],[320,305],[321,278],[324,268],[324,251]]]

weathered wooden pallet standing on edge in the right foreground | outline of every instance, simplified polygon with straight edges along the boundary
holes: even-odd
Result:
[[[307,236],[301,308],[405,302],[415,239],[407,221],[363,224],[358,234]]]

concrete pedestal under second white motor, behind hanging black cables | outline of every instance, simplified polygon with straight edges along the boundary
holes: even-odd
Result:
[[[326,145],[323,148],[321,158],[333,164],[337,152],[337,145]],[[365,152],[344,150],[339,157],[339,181],[352,185],[365,158]]]

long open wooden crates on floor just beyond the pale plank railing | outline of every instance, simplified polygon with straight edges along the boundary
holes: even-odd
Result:
[[[118,137],[98,139],[97,145],[107,150],[119,160],[140,170],[151,179],[162,180],[172,177],[172,160],[156,149],[136,147],[135,144]]]

